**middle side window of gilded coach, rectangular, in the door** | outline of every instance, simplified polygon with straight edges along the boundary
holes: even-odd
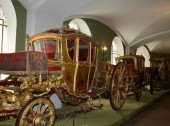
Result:
[[[89,54],[89,42],[86,40],[79,41],[79,61],[87,61]]]

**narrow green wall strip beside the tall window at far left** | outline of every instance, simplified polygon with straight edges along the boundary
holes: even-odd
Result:
[[[17,32],[16,32],[16,51],[25,50],[26,41],[26,9],[17,1],[11,0],[17,17]]]

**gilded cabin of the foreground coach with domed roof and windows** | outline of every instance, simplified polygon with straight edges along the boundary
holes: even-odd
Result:
[[[53,29],[29,40],[33,51],[44,52],[48,73],[60,73],[73,92],[91,90],[97,69],[97,45],[87,35],[71,29]]]

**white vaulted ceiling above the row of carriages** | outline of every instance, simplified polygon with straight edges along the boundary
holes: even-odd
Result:
[[[129,47],[145,44],[152,52],[170,54],[170,0],[18,1],[28,10],[29,20],[34,20],[34,12],[48,15],[56,26],[72,18],[95,19],[116,31]],[[36,29],[29,27],[28,32]]]

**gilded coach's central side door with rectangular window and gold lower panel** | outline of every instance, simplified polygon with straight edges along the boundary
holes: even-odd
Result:
[[[90,42],[79,38],[78,70],[76,77],[76,90],[87,90],[90,71]]]

